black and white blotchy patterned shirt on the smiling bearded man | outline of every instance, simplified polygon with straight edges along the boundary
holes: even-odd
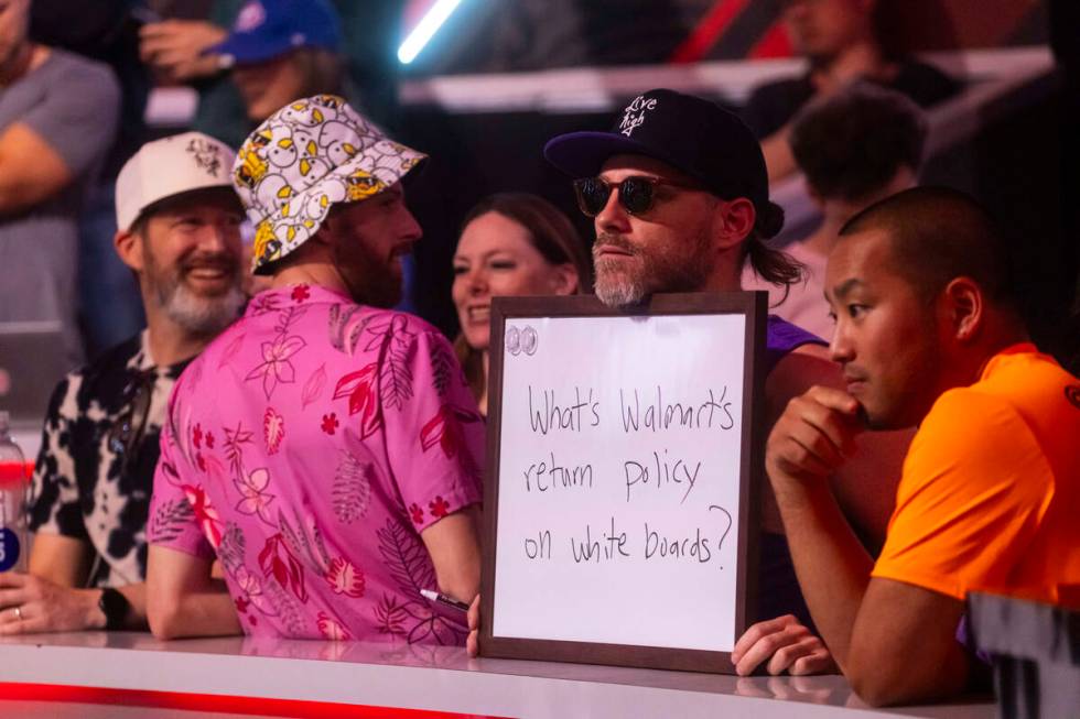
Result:
[[[91,587],[147,576],[147,513],[169,394],[187,361],[155,367],[147,333],[65,377],[34,468],[30,529],[87,542]]]

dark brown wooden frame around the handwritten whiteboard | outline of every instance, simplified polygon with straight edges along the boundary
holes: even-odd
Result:
[[[487,471],[484,483],[485,530],[480,591],[480,655],[515,660],[611,664],[688,672],[734,674],[728,652],[606,644],[563,640],[538,640],[493,635],[495,576],[497,567],[498,506],[503,415],[504,333],[507,319],[532,317],[633,317],[676,315],[731,315],[746,317],[743,361],[743,414],[738,488],[738,568],[735,577],[736,640],[754,617],[757,584],[760,488],[764,467],[764,390],[767,297],[764,292],[655,295],[631,308],[607,307],[594,296],[495,297],[492,301],[492,333],[488,374]],[[497,348],[497,350],[496,350]]]

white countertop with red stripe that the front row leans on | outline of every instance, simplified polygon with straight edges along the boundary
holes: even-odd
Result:
[[[26,689],[29,685],[37,688]],[[46,688],[42,689],[41,685]],[[96,700],[84,697],[77,712],[65,713],[74,711],[73,701],[78,697],[56,699],[63,693],[50,691],[50,686],[119,691]],[[165,700],[140,705],[148,693],[165,693],[153,694]],[[852,694],[842,676],[835,675],[734,677],[469,660],[457,647],[370,643],[250,638],[159,642],[149,634],[134,632],[0,639],[0,716],[120,716],[115,706],[105,704],[108,701],[142,707],[138,715],[131,716],[169,717],[174,716],[171,712],[188,695],[359,705],[384,712],[364,716],[386,716],[386,708],[419,710],[418,716],[457,712],[522,719],[579,716],[993,719],[996,716],[995,706],[987,702],[871,709]],[[176,704],[171,705],[170,697]],[[63,712],[54,701],[64,702]],[[278,711],[268,710],[268,715],[282,716]],[[202,712],[184,711],[175,716],[236,715],[225,704],[215,707],[210,702],[203,705]]]

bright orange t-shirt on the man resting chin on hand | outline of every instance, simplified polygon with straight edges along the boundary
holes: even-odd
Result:
[[[1080,381],[1016,345],[938,397],[873,576],[1080,608]]]

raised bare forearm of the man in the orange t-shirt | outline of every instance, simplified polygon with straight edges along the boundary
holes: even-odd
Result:
[[[814,624],[846,673],[852,628],[873,562],[823,483],[774,479],[799,587]]]

